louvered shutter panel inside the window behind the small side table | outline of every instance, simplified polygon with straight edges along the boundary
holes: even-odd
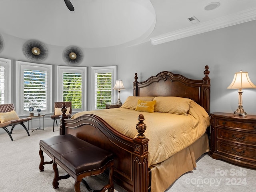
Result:
[[[24,70],[24,111],[30,106],[34,109],[47,108],[47,72],[39,70]]]

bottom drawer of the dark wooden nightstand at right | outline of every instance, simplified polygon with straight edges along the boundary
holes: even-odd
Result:
[[[255,160],[256,158],[256,148],[235,145],[222,141],[217,141],[217,146],[217,151],[228,155],[239,156],[240,158],[246,158],[248,160]]]

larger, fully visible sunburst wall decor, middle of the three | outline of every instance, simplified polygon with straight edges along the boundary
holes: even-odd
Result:
[[[22,46],[24,56],[30,61],[43,61],[48,56],[48,48],[38,40],[28,40]]]

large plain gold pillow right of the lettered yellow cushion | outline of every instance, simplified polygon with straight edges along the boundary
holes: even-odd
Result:
[[[155,112],[174,113],[188,115],[191,99],[182,97],[155,97]]]

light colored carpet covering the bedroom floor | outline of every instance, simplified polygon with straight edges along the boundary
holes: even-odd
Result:
[[[52,164],[44,165],[44,172],[38,169],[39,140],[58,134],[58,130],[52,132],[52,127],[30,131],[30,137],[24,129],[14,129],[13,142],[6,133],[0,134],[0,192],[74,192],[73,178],[60,180],[59,188],[52,188]],[[50,161],[47,155],[44,157]],[[60,175],[66,174],[58,168]],[[221,176],[225,171],[226,175]],[[233,176],[233,172],[240,175]],[[181,176],[166,192],[256,192],[255,179],[256,170],[214,160],[205,154],[198,160],[194,171]],[[99,189],[107,180],[104,176],[92,176],[86,181],[92,188]],[[81,192],[88,192],[83,184],[80,188]],[[115,183],[115,192],[125,190]]]

